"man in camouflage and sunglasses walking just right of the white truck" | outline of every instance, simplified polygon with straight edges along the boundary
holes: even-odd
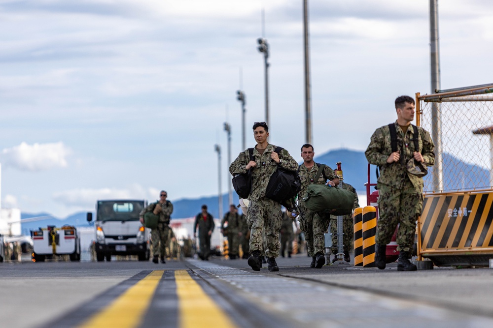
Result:
[[[147,205],[141,210],[139,214],[141,223],[144,224],[144,214],[147,212],[153,212],[155,215],[159,215],[159,221],[156,229],[151,230],[152,250],[154,257],[152,262],[158,263],[158,258],[161,255],[161,263],[166,263],[166,245],[168,240],[168,226],[170,224],[171,213],[173,213],[173,204],[166,200],[168,193],[161,190],[159,193],[159,201]]]

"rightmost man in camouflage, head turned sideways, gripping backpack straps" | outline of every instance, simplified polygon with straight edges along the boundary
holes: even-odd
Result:
[[[435,146],[428,131],[418,127],[419,149],[415,149],[414,130],[411,126],[415,113],[414,104],[414,99],[409,96],[395,99],[397,151],[392,152],[388,125],[373,133],[365,151],[370,164],[381,166],[381,175],[377,180],[380,217],[375,236],[375,264],[380,269],[385,268],[386,245],[397,224],[397,270],[417,269],[409,258],[413,249],[416,221],[423,210],[423,173],[418,176],[407,165],[408,162],[416,163],[423,168],[422,172],[427,172],[426,166],[435,163]]]

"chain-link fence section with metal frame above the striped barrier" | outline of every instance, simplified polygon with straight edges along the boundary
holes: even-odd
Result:
[[[424,193],[492,189],[493,84],[416,94],[417,124],[435,144]]]

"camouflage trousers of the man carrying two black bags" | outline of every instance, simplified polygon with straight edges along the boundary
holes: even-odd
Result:
[[[269,258],[279,256],[279,231],[282,226],[281,204],[267,198],[250,201],[246,223],[250,228],[250,253],[255,250],[265,251]],[[262,242],[262,231],[265,232],[266,244]]]

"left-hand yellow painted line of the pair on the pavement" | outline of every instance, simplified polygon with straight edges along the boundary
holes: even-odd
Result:
[[[154,295],[164,270],[152,271],[141,281],[130,287],[105,310],[99,312],[81,328],[135,328],[141,324],[142,316]]]

